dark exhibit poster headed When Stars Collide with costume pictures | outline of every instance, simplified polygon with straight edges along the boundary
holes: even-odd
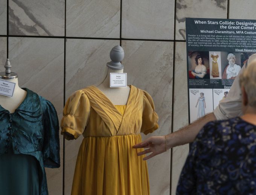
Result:
[[[189,123],[212,112],[250,55],[256,20],[186,18]]]

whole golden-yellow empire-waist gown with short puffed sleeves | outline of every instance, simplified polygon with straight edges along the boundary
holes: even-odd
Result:
[[[147,195],[148,168],[133,145],[158,128],[151,96],[134,86],[125,105],[114,106],[97,87],[73,93],[61,120],[62,135],[83,134],[72,195]],[[66,133],[64,133],[66,132]]]

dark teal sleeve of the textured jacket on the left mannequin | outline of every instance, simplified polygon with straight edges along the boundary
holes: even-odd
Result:
[[[44,107],[44,166],[58,168],[60,166],[58,115],[51,102],[46,101]]]

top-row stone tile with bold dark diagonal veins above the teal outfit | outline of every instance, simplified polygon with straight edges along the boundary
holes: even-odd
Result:
[[[9,34],[64,36],[64,0],[9,0]]]

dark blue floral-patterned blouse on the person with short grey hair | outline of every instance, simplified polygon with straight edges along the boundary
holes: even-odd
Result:
[[[256,194],[256,126],[207,123],[192,144],[176,194]]]

